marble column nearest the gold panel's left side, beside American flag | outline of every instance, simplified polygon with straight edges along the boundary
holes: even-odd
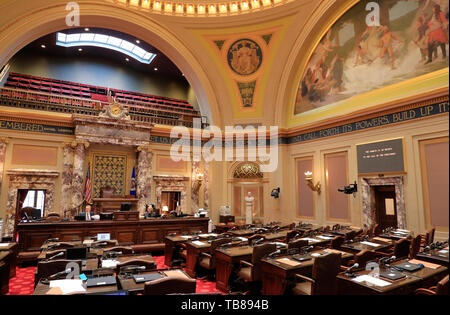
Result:
[[[84,196],[84,181],[86,174],[84,173],[84,161],[86,159],[86,149],[89,147],[88,142],[74,142],[73,147],[73,176],[72,176],[72,208],[80,206]]]

